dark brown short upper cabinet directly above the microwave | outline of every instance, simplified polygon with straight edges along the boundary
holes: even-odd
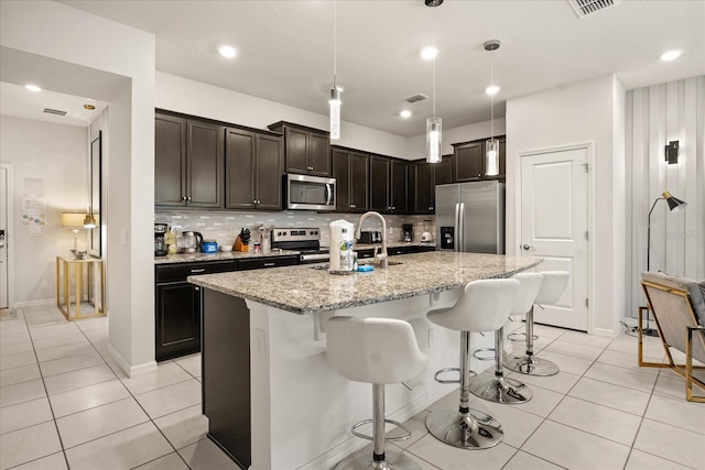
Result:
[[[328,132],[284,121],[271,124],[269,129],[284,135],[286,173],[330,176]]]

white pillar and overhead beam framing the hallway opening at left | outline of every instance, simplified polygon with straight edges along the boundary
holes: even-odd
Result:
[[[154,35],[53,1],[3,2],[0,44],[123,77],[109,101],[110,346],[128,373],[154,363]],[[62,83],[66,77],[44,77]],[[59,79],[62,78],[62,79]],[[55,91],[65,89],[47,87]]]

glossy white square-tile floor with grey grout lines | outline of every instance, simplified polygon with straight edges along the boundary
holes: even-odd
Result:
[[[705,469],[705,404],[685,401],[680,375],[639,368],[636,338],[536,334],[539,356],[561,373],[514,376],[533,390],[529,403],[470,404],[502,424],[500,445],[462,450],[427,434],[430,411],[457,406],[448,385],[409,420],[412,438],[388,446],[431,470]],[[646,340],[647,357],[660,360],[659,339]],[[198,354],[128,379],[107,346],[105,317],[67,323],[54,307],[32,307],[0,320],[0,469],[237,468],[205,438]]]

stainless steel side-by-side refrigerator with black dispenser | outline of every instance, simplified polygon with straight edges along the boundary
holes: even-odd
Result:
[[[497,181],[436,186],[436,249],[505,253],[505,185]]]

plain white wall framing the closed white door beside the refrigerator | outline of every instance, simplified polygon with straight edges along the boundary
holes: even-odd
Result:
[[[507,252],[518,239],[518,153],[594,142],[592,173],[593,278],[592,331],[616,331],[623,302],[625,229],[623,89],[612,76],[600,77],[507,102]],[[620,110],[620,107],[622,109]],[[623,122],[623,120],[622,120]],[[622,134],[623,135],[623,134]],[[620,189],[621,188],[621,189]],[[596,253],[600,253],[596,255]]]

